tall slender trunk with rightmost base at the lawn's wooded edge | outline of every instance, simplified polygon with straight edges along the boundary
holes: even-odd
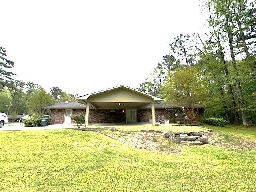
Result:
[[[226,18],[226,27],[228,28],[228,18]],[[227,29],[227,33],[228,33],[228,41],[229,41],[229,46],[230,46],[230,56],[232,59],[232,66],[233,66],[234,74],[236,76],[235,78],[236,78],[237,96],[238,96],[239,103],[241,105],[242,121],[243,121],[244,126],[248,126],[246,111],[244,111],[244,108],[246,108],[246,105],[244,104],[241,84],[240,84],[240,80],[239,80],[238,71],[236,68],[236,58],[234,55],[233,37],[232,37],[230,30]]]

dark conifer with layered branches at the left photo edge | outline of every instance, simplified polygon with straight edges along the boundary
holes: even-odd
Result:
[[[5,68],[10,69],[14,66],[14,62],[8,60],[6,56],[6,50],[0,47],[0,89],[7,86],[14,75],[14,73],[5,70]]]

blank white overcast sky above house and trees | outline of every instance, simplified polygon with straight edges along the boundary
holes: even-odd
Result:
[[[72,94],[138,88],[180,33],[200,32],[197,0],[1,0],[0,46],[18,80]]]

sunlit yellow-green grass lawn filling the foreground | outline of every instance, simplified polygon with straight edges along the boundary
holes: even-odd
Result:
[[[252,192],[255,175],[256,150],[203,145],[163,154],[96,132],[0,132],[0,191]]]

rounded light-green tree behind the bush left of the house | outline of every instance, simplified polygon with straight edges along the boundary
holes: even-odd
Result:
[[[52,97],[46,93],[45,90],[36,91],[28,98],[27,102],[28,114],[41,116],[47,109],[43,109],[43,106],[52,104]]]

